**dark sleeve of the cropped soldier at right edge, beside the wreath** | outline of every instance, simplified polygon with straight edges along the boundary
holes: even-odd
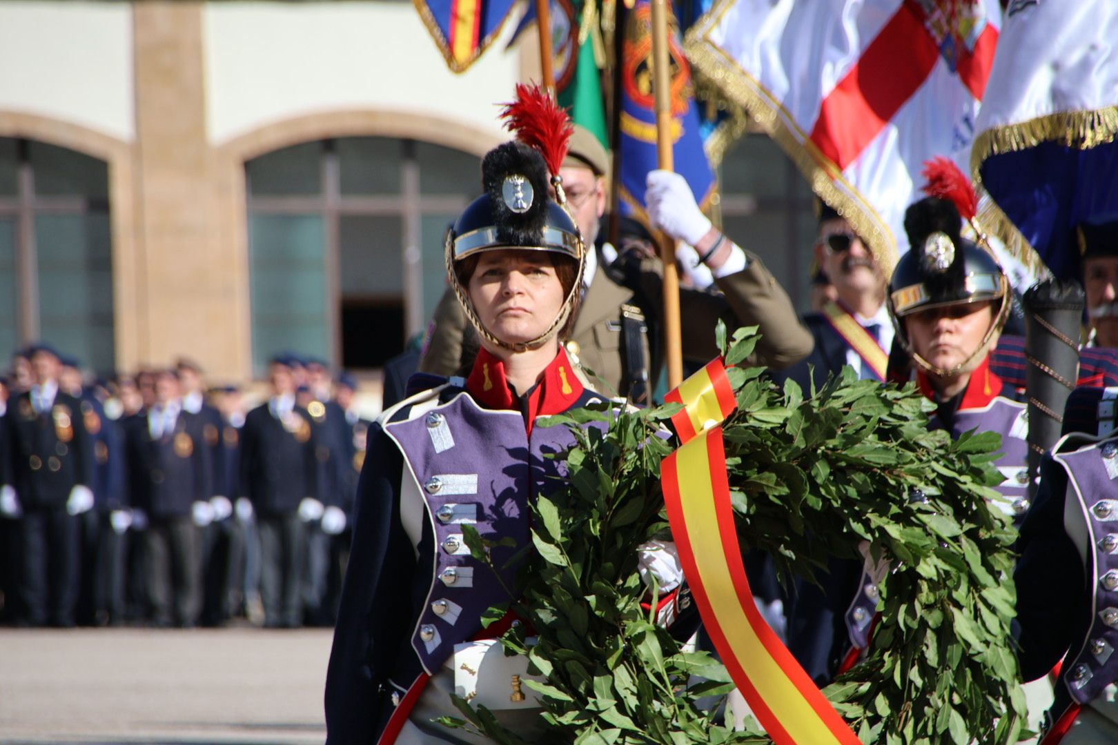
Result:
[[[1045,456],[1036,500],[1021,526],[1021,558],[1013,573],[1017,588],[1021,672],[1025,680],[1046,675],[1071,646],[1077,623],[1090,615],[1083,562],[1064,531],[1068,477]]]

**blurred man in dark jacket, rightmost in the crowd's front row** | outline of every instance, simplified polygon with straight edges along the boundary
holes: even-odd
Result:
[[[240,491],[248,498],[260,543],[264,624],[302,624],[305,522],[322,518],[315,424],[295,405],[295,379],[283,356],[269,366],[272,398],[253,409],[240,429]]]

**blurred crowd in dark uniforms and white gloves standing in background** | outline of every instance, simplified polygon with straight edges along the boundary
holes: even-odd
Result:
[[[266,400],[190,360],[87,381],[46,344],[0,379],[0,622],[331,625],[369,421],[277,354]]]

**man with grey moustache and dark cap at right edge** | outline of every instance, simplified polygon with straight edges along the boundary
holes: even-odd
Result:
[[[1088,346],[1118,347],[1118,212],[1080,223]]]

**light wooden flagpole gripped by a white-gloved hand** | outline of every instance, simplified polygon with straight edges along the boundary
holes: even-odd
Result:
[[[652,90],[656,111],[656,161],[673,171],[671,68],[667,64],[667,0],[652,0]],[[683,382],[683,344],[680,328],[680,275],[675,266],[675,241],[660,235],[660,257],[664,265],[664,359],[667,388]]]

